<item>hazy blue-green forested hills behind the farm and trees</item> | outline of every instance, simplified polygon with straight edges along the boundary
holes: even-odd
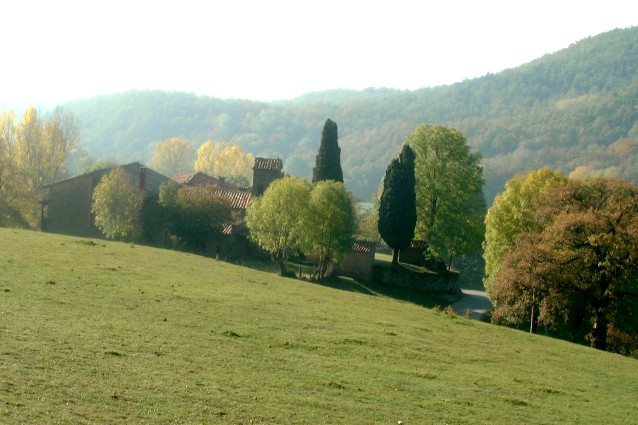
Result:
[[[309,177],[326,118],[339,126],[344,180],[367,200],[403,138],[420,124],[463,131],[483,156],[488,203],[514,174],[550,166],[566,174],[638,181],[638,27],[575,43],[498,74],[417,91],[310,93],[290,101],[221,100],[127,92],[63,105],[80,119],[89,155],[147,161],[153,143],[183,137],[233,141],[280,157]]]

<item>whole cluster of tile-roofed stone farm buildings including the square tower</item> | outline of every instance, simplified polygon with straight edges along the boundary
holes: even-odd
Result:
[[[139,162],[123,165],[145,197],[157,196],[162,184],[171,178],[145,167]],[[42,202],[42,230],[72,236],[102,238],[95,226],[91,211],[93,190],[101,178],[113,168],[92,171],[50,183],[45,186]],[[283,177],[281,159],[255,158],[252,190],[228,183],[223,177],[211,177],[205,173],[193,173],[173,177],[182,187],[204,186],[210,188],[211,196],[221,196],[230,203],[234,220],[228,223],[223,234],[210,241],[208,252],[221,259],[236,259],[260,254],[259,248],[249,240],[246,226],[246,208],[253,196],[259,196],[275,180]],[[334,272],[361,280],[372,276],[376,243],[357,240]]]

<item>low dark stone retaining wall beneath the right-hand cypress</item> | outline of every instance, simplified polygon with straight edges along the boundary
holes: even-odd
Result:
[[[460,295],[459,274],[443,271],[419,272],[401,266],[377,264],[372,268],[372,281],[385,285],[420,289],[445,295]]]

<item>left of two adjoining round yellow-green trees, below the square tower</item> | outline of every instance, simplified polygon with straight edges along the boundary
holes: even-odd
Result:
[[[304,218],[310,199],[310,185],[298,177],[275,180],[246,211],[250,237],[279,263],[286,274],[286,261],[301,248]]]

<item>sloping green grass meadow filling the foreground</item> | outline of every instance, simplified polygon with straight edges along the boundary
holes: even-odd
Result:
[[[0,335],[4,424],[638,417],[636,360],[98,240],[0,229]]]

